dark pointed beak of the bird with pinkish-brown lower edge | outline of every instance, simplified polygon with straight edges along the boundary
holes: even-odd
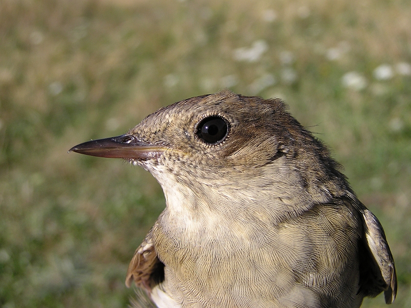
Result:
[[[107,158],[145,160],[155,158],[165,150],[167,149],[141,142],[132,135],[121,135],[80,143],[68,152]]]

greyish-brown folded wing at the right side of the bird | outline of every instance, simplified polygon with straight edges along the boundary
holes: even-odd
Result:
[[[381,291],[384,291],[385,301],[390,304],[394,301],[397,294],[397,275],[395,272],[394,259],[392,258],[391,251],[385,237],[385,233],[381,223],[373,213],[364,209],[364,231],[366,248],[371,252],[372,259],[365,260],[365,268],[367,268],[366,275],[368,278],[367,288],[365,293],[369,296],[375,296]],[[371,262],[374,264],[370,264]],[[361,262],[361,261],[360,261]],[[374,280],[370,282],[371,279]]]

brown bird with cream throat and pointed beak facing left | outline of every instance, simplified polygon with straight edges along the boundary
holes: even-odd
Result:
[[[358,308],[397,279],[383,227],[330,150],[280,98],[223,90],[70,149],[122,158],[160,183],[165,209],[126,285],[158,308]]]

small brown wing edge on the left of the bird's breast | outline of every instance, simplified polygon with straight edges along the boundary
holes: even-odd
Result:
[[[153,241],[153,229],[146,235],[131,260],[126,276],[126,285],[134,283],[151,293],[153,287],[164,279],[164,264],[157,257]]]

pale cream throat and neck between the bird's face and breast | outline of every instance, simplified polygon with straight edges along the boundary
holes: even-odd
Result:
[[[149,168],[166,199],[159,223],[167,237],[186,241],[187,245],[201,245],[199,241],[205,237],[199,234],[207,234],[206,238],[224,235],[232,240],[243,237],[244,232],[256,231],[246,230],[254,225],[272,228],[332,198],[326,186],[301,185],[306,182],[304,175],[285,157],[253,173],[194,170],[193,176],[184,173],[183,167],[174,172],[170,169],[164,165]]]

